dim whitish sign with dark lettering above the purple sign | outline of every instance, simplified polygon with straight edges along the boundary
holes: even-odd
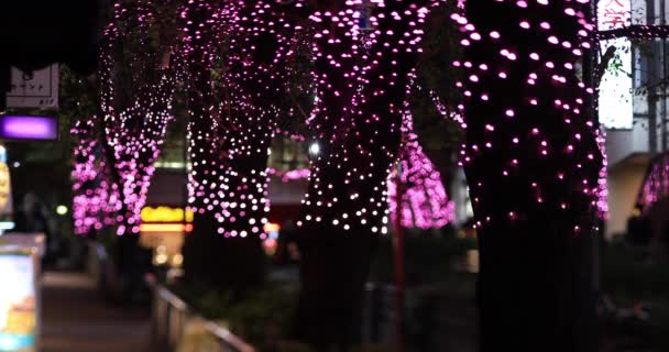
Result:
[[[55,109],[58,107],[58,64],[32,73],[12,67],[8,108]]]

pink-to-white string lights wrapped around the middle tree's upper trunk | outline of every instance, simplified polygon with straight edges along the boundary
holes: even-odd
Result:
[[[420,52],[429,1],[372,1],[369,30],[361,0],[317,10],[314,77],[318,94],[307,120],[321,153],[298,226],[387,232],[386,180],[399,147],[408,75]]]

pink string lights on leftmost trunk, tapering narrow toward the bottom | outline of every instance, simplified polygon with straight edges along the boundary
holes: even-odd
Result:
[[[131,37],[136,37],[140,46],[150,47],[151,7],[151,1],[138,1],[132,8],[116,4],[114,19],[123,26],[108,28],[99,74],[106,148],[111,180],[119,190],[118,200],[108,199],[116,212],[117,234],[140,231],[140,212],[154,173],[153,163],[172,119],[176,75],[166,64],[169,50],[132,53],[125,57],[128,66],[119,59],[127,55],[123,45]],[[124,73],[129,75],[122,77]],[[119,86],[120,82],[127,86]]]

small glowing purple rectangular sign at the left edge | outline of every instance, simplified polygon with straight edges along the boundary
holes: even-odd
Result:
[[[57,117],[0,116],[0,139],[57,141]]]

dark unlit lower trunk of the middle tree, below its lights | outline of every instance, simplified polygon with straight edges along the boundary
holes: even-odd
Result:
[[[346,351],[360,341],[364,284],[376,237],[310,226],[299,235],[300,294],[294,338],[327,351]]]

